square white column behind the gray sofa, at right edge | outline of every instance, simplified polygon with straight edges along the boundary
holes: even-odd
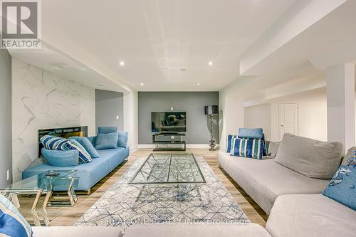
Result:
[[[328,141],[342,142],[344,152],[355,146],[355,64],[328,68]]]

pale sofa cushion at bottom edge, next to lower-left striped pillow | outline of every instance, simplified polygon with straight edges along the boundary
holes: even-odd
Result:
[[[119,227],[104,226],[34,226],[33,237],[121,237]]]

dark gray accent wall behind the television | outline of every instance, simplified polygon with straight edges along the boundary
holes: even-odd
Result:
[[[205,105],[219,105],[219,92],[139,92],[138,143],[151,144],[151,112],[187,112],[188,144],[208,144],[210,123]],[[214,138],[219,143],[219,115],[214,115]]]

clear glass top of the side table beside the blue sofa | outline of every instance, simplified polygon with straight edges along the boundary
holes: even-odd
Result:
[[[53,184],[63,179],[71,179],[76,176],[76,170],[48,170],[40,174],[35,174],[32,177],[17,181],[14,184],[10,184],[0,188],[0,191],[23,191],[31,190],[36,191],[42,189],[43,191],[50,191]]]

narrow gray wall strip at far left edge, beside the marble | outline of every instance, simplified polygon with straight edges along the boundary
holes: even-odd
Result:
[[[1,41],[1,36],[0,36]],[[0,49],[0,186],[12,181],[11,56]],[[7,180],[9,170],[9,180]]]

